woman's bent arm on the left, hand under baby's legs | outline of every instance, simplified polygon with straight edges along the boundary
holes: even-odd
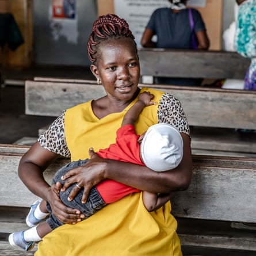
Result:
[[[77,210],[66,207],[58,196],[60,184],[49,186],[43,177],[47,166],[58,158],[58,155],[46,150],[36,142],[24,156],[18,166],[18,175],[27,188],[36,196],[48,201],[52,212],[59,220],[68,224],[75,224],[83,215]]]

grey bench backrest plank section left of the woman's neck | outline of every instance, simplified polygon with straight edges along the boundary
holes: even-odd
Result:
[[[64,109],[102,97],[105,90],[97,84],[65,82],[25,82],[25,114],[58,116]]]

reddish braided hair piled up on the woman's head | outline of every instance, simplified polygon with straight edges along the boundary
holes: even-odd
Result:
[[[123,18],[116,14],[106,14],[98,17],[93,23],[92,32],[87,42],[87,52],[91,63],[95,63],[97,60],[98,44],[113,37],[129,37],[135,43],[135,37],[129,30],[127,21]]]

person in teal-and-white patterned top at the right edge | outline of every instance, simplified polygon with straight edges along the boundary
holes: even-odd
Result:
[[[235,31],[236,51],[251,59],[244,90],[256,90],[256,0],[236,0],[239,5]]]

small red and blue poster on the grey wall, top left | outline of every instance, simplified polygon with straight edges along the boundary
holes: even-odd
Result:
[[[75,18],[75,0],[52,0],[52,18]]]

